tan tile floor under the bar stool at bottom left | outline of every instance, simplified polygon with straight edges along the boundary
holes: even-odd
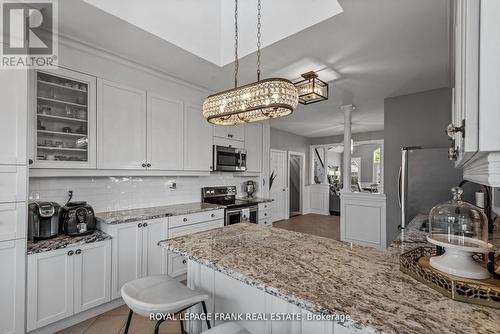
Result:
[[[122,334],[125,330],[129,308],[127,305],[68,327],[57,334]],[[134,314],[129,334],[153,333],[156,321]],[[160,326],[162,334],[181,334],[179,321],[166,321]]]

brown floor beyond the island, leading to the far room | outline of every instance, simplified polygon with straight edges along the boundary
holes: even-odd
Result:
[[[280,220],[273,227],[340,240],[340,217],[307,214]]]

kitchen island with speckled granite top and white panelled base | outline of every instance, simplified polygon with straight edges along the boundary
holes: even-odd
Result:
[[[252,333],[499,332],[500,310],[450,300],[402,273],[404,241],[381,251],[242,223],[160,245],[189,258],[188,285],[211,296],[209,311],[302,315],[240,321]]]

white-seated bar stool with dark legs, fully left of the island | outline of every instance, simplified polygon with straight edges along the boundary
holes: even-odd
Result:
[[[128,282],[122,287],[122,298],[130,308],[125,325],[125,333],[128,333],[132,314],[135,312],[144,317],[149,317],[152,313],[170,313],[177,315],[188,308],[200,304],[203,312],[207,315],[205,300],[208,295],[189,289],[175,279],[162,276],[149,276]],[[160,325],[165,319],[158,320],[155,326],[155,334],[158,334]],[[210,321],[206,320],[208,328],[211,328]],[[182,334],[187,334],[181,320]]]

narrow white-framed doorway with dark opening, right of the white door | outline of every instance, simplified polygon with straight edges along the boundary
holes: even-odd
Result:
[[[302,214],[305,154],[288,152],[288,217]]]

